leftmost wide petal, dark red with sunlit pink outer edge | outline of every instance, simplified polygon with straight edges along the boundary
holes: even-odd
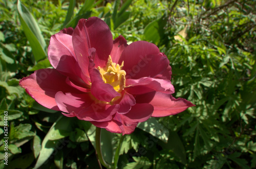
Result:
[[[62,92],[79,92],[66,84],[66,76],[55,69],[36,70],[28,77],[19,81],[19,85],[39,104],[54,110],[59,110],[55,102],[55,94]]]

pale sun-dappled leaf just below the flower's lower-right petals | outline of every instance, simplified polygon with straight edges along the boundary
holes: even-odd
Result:
[[[139,123],[137,127],[161,139],[165,143],[167,143],[168,141],[168,137],[169,137],[168,129],[164,127],[164,125],[159,123],[156,120],[156,118],[150,118],[145,122]]]

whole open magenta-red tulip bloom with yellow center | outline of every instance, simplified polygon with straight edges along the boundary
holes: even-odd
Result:
[[[53,35],[53,69],[36,70],[20,86],[39,104],[110,132],[130,134],[150,117],[178,114],[194,104],[174,98],[169,60],[145,41],[113,41],[97,17]]]

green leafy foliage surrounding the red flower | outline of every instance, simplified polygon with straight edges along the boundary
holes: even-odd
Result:
[[[174,96],[197,105],[139,124],[124,137],[118,168],[254,168],[255,4],[0,0],[0,168],[99,168],[95,127],[42,107],[18,85],[34,70],[51,67],[51,35],[90,16],[108,23],[114,38],[155,43],[172,66]],[[101,136],[111,163],[121,136],[105,130]]]

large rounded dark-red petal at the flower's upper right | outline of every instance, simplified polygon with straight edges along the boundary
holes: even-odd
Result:
[[[155,77],[164,73],[166,76],[164,79],[170,80],[170,75],[165,73],[169,67],[169,60],[152,43],[145,41],[131,43],[123,50],[118,63],[121,64],[122,61],[124,62],[123,70],[126,72],[126,79]]]

